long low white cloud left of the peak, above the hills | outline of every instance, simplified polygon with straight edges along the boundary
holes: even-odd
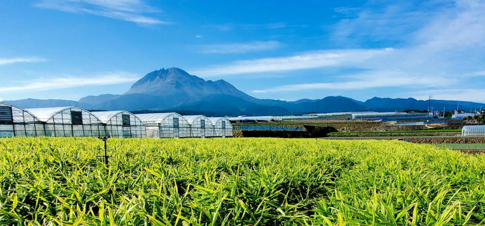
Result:
[[[73,88],[87,85],[113,85],[137,81],[139,77],[134,74],[106,73],[91,77],[64,76],[58,78],[40,78],[37,80],[23,81],[21,85],[0,87],[0,93],[32,92],[55,89]]]

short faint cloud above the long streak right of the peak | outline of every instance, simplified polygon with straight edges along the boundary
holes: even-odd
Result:
[[[278,41],[267,42],[248,42],[248,43],[230,43],[202,46],[200,52],[203,53],[244,53],[251,51],[271,50],[280,48],[282,44]]]

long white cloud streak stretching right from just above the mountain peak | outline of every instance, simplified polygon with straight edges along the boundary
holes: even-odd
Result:
[[[345,66],[368,60],[377,55],[386,55],[392,51],[392,48],[311,51],[289,57],[236,61],[228,65],[211,65],[207,69],[194,70],[192,73],[198,76],[210,77],[291,71],[337,65]]]

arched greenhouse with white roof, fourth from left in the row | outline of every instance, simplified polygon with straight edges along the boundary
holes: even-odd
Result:
[[[147,137],[190,137],[190,124],[178,113],[148,113],[136,116],[145,124]]]

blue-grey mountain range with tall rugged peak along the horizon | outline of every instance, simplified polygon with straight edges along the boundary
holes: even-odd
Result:
[[[283,115],[310,112],[425,110],[427,100],[373,97],[365,102],[348,97],[324,97],[284,101],[251,97],[224,80],[205,81],[180,68],[152,71],[135,82],[122,95],[104,94],[79,101],[22,99],[5,101],[23,108],[79,106],[89,110],[128,110],[134,112],[171,112],[208,116]],[[480,108],[483,103],[456,100],[431,100],[436,110]]]

